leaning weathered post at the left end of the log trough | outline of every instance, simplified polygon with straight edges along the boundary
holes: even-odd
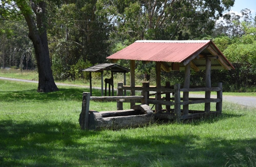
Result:
[[[82,111],[79,115],[79,124],[81,129],[88,129],[90,93],[83,92]]]

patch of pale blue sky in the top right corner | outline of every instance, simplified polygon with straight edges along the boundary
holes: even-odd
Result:
[[[256,12],[256,0],[235,0],[234,6],[231,7],[231,12],[239,14],[242,9],[250,9],[252,11],[252,17],[255,17]]]

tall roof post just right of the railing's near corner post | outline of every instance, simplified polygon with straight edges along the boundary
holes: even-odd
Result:
[[[189,88],[190,85],[190,62],[185,66],[185,78],[183,88]],[[183,92],[183,101],[188,101],[189,92]],[[188,105],[183,105],[183,115],[188,114]]]

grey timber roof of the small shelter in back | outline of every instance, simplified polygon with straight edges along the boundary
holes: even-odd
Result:
[[[101,72],[104,70],[112,71],[112,72],[130,72],[130,69],[119,66],[117,64],[113,63],[101,63],[97,64],[95,66],[88,67],[82,71],[88,71],[88,72]]]

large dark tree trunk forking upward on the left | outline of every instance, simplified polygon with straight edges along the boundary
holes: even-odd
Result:
[[[28,25],[29,38],[32,40],[35,57],[38,68],[38,88],[37,92],[58,91],[53,79],[53,73],[50,65],[49,48],[46,34],[47,16],[45,13],[45,2],[31,2],[32,10],[36,15],[36,22],[33,16],[27,12],[23,4],[19,4],[19,8],[23,11],[23,15]]]

